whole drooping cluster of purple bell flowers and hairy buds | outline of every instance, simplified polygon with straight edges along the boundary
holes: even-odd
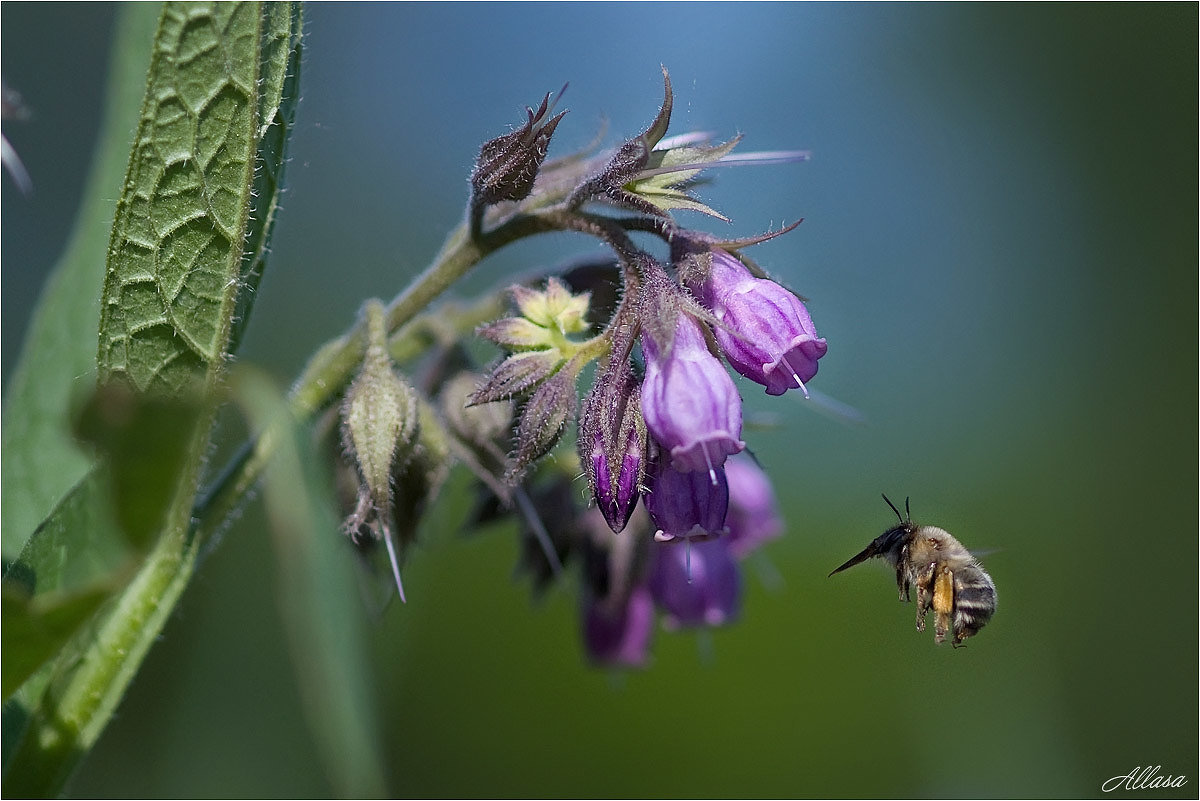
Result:
[[[577,556],[587,652],[623,666],[646,662],[656,612],[668,628],[736,619],[738,561],[782,530],[770,482],[746,453],[728,368],[768,395],[808,396],[827,350],[802,299],[742,252],[791,229],[722,241],[672,216],[721,217],[690,193],[707,168],[806,153],[734,156],[738,139],[666,137],[673,96],[666,71],[664,79],[654,121],[611,152],[545,161],[563,118],[551,116],[548,96],[527,110],[523,127],[482,146],[472,236],[506,224],[574,230],[601,240],[612,257],[511,287],[515,312],[475,326],[508,354],[486,375],[463,379],[472,374],[464,351],[448,348],[416,390],[438,397],[449,451],[485,489],[475,522],[517,517],[539,586]],[[635,233],[661,240],[666,258],[635,245]],[[594,383],[581,402],[577,383],[592,362]],[[467,422],[464,411],[490,405],[503,405],[511,421],[508,453],[505,426],[484,435]],[[556,446],[576,420],[568,456]],[[422,418],[421,430],[431,424]],[[554,459],[542,459],[548,453]],[[572,480],[581,475],[590,508],[577,504]],[[385,489],[368,496],[390,502]]]

